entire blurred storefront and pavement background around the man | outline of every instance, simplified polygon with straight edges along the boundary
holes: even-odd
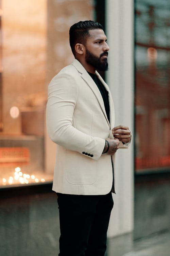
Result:
[[[169,256],[137,254],[158,239],[170,242],[169,0],[0,0],[1,256],[58,254],[47,89],[73,60],[70,26],[89,19],[108,38],[109,70],[102,76],[115,125],[133,132],[130,149],[116,156],[106,255]]]

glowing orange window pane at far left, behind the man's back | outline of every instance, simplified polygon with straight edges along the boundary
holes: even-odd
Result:
[[[52,180],[44,172],[46,2],[1,1],[0,185]]]

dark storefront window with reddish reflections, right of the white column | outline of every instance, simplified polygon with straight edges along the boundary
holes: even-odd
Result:
[[[170,3],[135,1],[135,169],[170,171]]]

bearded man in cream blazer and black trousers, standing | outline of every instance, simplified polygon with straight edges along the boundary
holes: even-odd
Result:
[[[114,154],[131,132],[114,127],[111,92],[98,71],[108,69],[103,27],[70,28],[73,63],[49,85],[47,129],[57,144],[53,190],[60,211],[60,256],[104,256],[114,187]],[[112,191],[112,192],[111,192]]]

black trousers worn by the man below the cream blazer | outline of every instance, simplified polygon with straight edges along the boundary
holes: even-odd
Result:
[[[104,256],[112,193],[57,196],[61,231],[58,256]]]

